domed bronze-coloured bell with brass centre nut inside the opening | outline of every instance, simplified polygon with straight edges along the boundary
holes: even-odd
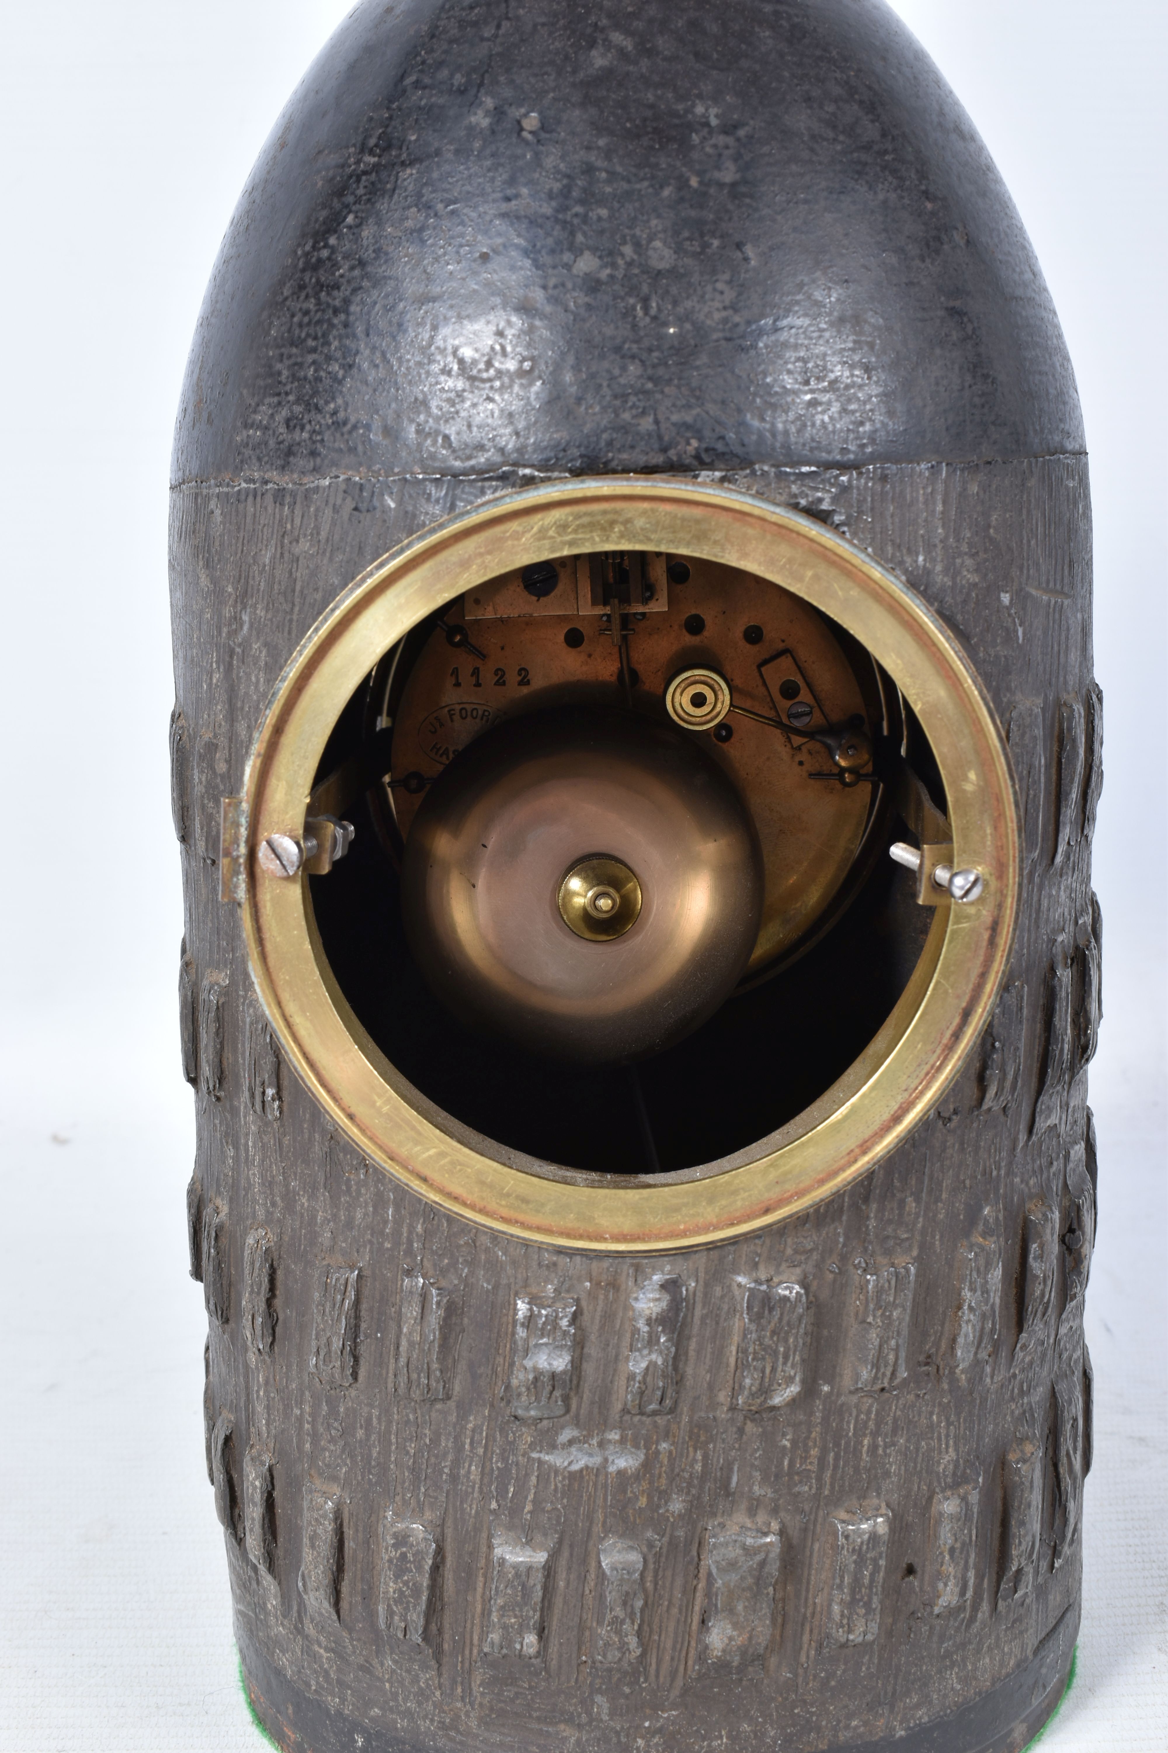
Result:
[[[742,799],[692,738],[636,712],[552,708],[450,764],[401,884],[413,955],[455,1015],[604,1064],[660,1052],[728,997],[763,868]]]

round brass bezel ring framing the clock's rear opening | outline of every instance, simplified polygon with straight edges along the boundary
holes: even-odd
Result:
[[[436,1113],[340,992],[308,884],[257,869],[268,834],[303,833],[326,740],[362,677],[424,615],[483,578],[567,552],[641,549],[739,566],[853,633],[904,691],[949,799],[954,864],[981,898],[942,901],[876,1040],[781,1132],[660,1176],[541,1164]],[[979,1040],[1010,955],[1019,894],[1014,775],[986,691],[928,603],[814,519],[704,482],[602,477],[503,494],[424,529],[326,610],[280,677],[249,757],[243,933],[252,976],[298,1076],[354,1145],[431,1204],[545,1246],[660,1253],[728,1241],[848,1187],[937,1104]]]

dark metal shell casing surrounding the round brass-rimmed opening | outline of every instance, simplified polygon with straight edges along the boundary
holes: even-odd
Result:
[[[700,475],[902,573],[1009,731],[1024,826],[1002,997],[916,1131],[799,1218],[651,1257],[369,1164],[219,899],[222,799],[315,621],[436,521],[581,470]],[[207,1455],[282,1744],[1005,1753],[1054,1707],[1089,1460],[1089,601],[1058,323],[890,9],[350,14],[224,242],[173,480]]]

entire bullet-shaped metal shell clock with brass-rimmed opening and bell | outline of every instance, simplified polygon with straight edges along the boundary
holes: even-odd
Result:
[[[1073,377],[877,0],[357,5],[175,444],[187,1215],[303,1753],[1017,1753],[1079,1623]]]

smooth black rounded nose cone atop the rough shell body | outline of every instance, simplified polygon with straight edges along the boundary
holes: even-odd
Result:
[[[1021,221],[883,0],[368,0],[243,193],[175,475],[1080,449]]]

